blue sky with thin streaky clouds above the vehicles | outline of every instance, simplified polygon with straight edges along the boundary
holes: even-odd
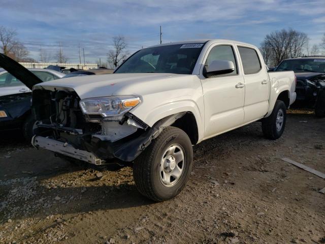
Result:
[[[113,36],[123,35],[131,53],[159,44],[159,25],[164,43],[226,38],[259,46],[266,34],[292,27],[312,45],[325,33],[325,0],[0,0],[0,6],[0,25],[16,29],[30,57],[39,60],[40,47],[54,54],[61,42],[70,63],[79,63],[79,43],[88,62],[107,59]]]

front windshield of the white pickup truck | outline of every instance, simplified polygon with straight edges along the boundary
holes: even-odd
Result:
[[[191,74],[203,46],[203,43],[192,43],[141,49],[114,73]]]

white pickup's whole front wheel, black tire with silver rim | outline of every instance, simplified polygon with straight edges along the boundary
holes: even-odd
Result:
[[[154,201],[171,199],[185,187],[192,163],[193,149],[187,134],[167,127],[135,160],[136,186]]]

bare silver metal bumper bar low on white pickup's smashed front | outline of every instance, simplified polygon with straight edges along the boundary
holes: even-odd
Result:
[[[67,142],[64,143],[42,136],[34,136],[31,139],[31,144],[36,148],[41,147],[53,151],[54,153],[69,156],[71,158],[82,160],[87,163],[95,165],[101,165],[105,163],[105,160],[97,158],[94,154],[89,153],[89,151],[76,149]]]

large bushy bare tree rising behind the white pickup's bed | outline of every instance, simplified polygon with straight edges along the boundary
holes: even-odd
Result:
[[[267,35],[261,46],[270,49],[272,58],[268,62],[275,66],[285,58],[301,56],[308,40],[305,33],[297,32],[294,29],[282,29]]]

